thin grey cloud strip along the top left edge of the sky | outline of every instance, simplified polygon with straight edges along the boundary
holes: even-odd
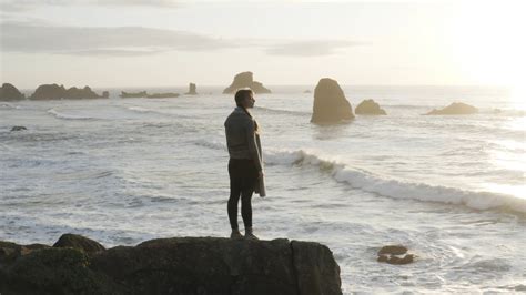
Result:
[[[160,7],[176,8],[181,3],[175,0],[0,0],[0,11],[27,11],[39,7]]]

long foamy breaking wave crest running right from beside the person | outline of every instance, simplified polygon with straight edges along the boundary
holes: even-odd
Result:
[[[411,199],[425,202],[462,204],[475,210],[507,208],[526,213],[526,201],[505,194],[473,192],[456,187],[411,183],[386,179],[374,173],[353,169],[337,161],[325,160],[303,150],[276,150],[265,153],[266,164],[301,164],[320,166],[331,173],[334,180],[353,189],[393,199]]]

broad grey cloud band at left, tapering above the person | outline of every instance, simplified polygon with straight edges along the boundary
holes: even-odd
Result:
[[[3,52],[144,55],[173,50],[212,51],[234,47],[233,43],[203,34],[142,27],[82,28],[4,22],[0,29],[0,48]]]

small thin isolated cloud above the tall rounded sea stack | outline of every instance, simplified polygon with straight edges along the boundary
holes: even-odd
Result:
[[[318,57],[337,53],[340,49],[350,47],[366,45],[364,42],[344,41],[344,40],[315,40],[315,41],[295,41],[279,43],[266,49],[266,53],[272,55],[286,57]]]

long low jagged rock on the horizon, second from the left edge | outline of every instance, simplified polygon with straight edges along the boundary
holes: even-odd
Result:
[[[91,90],[89,87],[79,89],[72,87],[65,89],[64,85],[43,84],[39,85],[34,93],[29,98],[30,100],[83,100],[83,99],[100,99],[104,98]]]

